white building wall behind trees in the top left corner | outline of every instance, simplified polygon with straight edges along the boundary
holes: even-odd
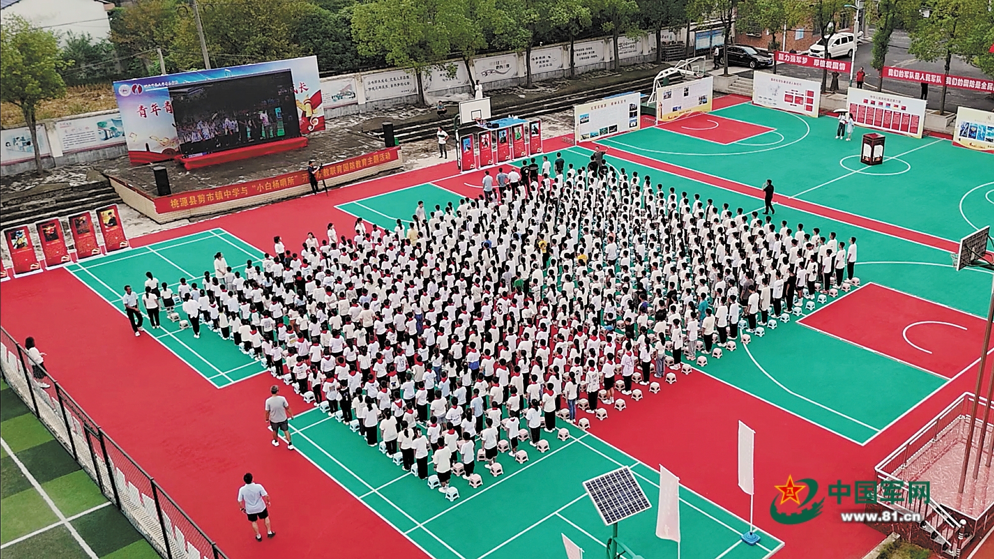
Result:
[[[0,11],[0,20],[18,15],[29,22],[65,36],[88,33],[93,39],[110,35],[104,4],[96,0],[20,0]]]

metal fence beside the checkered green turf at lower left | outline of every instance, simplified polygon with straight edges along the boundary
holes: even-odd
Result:
[[[0,327],[0,371],[11,389],[52,432],[104,495],[167,559],[228,559],[216,543],[141,466],[107,436],[51,377],[32,378],[28,353]]]

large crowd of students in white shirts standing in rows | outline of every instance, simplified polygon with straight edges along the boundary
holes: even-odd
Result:
[[[503,171],[501,171],[503,173]],[[178,298],[195,335],[231,338],[300,393],[358,421],[370,446],[433,465],[486,466],[503,437],[535,446],[557,412],[610,404],[617,381],[662,376],[789,312],[804,289],[851,279],[849,244],[757,212],[652,186],[591,161],[525,164],[477,199],[418,204],[396,229],[339,236],[244,267],[220,253]],[[158,283],[149,275],[148,286]],[[168,289],[168,286],[165,287]],[[700,347],[699,347],[700,346]]]

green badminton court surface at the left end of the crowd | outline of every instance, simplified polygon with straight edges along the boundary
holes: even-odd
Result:
[[[225,255],[233,270],[244,268],[244,263],[249,259],[253,262],[262,259],[262,253],[245,241],[223,229],[212,229],[86,259],[71,264],[66,269],[112,304],[123,316],[121,296],[124,285],[130,284],[133,290],[140,292],[145,282],[145,273],[151,272],[160,283],[169,282],[174,291],[180,278],[186,278],[188,282],[196,282],[200,286],[204,280],[204,271],[211,271],[213,276],[214,255],[217,253]],[[179,310],[178,300],[176,308],[185,319],[185,313]],[[180,328],[178,323],[166,318],[164,311],[160,318],[162,328],[152,329],[148,316],[145,316],[143,327],[148,334],[214,386],[222,388],[264,370],[258,361],[241,352],[230,339],[222,338],[220,333],[212,332],[202,325],[200,338],[194,338],[192,328]],[[127,320],[124,317],[121,319]]]

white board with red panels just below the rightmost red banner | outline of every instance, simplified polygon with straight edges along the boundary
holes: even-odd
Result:
[[[849,90],[849,113],[856,124],[920,138],[925,124],[925,101],[891,93]]]

